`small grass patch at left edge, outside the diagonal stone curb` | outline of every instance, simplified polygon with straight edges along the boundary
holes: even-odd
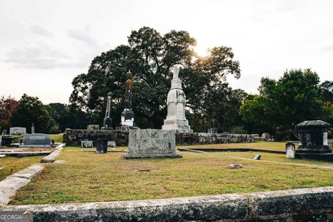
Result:
[[[4,157],[0,159],[0,181],[26,167],[40,162],[43,156],[35,157]],[[3,169],[1,169],[3,167]]]

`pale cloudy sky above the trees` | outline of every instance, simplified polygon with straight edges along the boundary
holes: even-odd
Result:
[[[241,78],[227,80],[248,93],[287,69],[333,80],[332,21],[331,0],[0,0],[0,96],[68,103],[71,80],[143,26],[188,31],[201,56],[232,47]]]

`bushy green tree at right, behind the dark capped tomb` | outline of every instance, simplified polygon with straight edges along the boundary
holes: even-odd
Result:
[[[248,129],[293,130],[305,120],[323,119],[319,77],[310,69],[286,71],[279,80],[262,78],[259,95],[246,99],[239,110]]]

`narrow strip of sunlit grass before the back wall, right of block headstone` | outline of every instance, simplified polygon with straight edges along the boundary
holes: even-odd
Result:
[[[255,142],[255,143],[235,143],[235,144],[200,144],[189,146],[177,146],[178,148],[256,148],[271,151],[286,151],[287,142]],[[295,144],[298,148],[298,144]]]

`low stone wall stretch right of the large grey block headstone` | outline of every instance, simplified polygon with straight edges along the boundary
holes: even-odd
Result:
[[[232,144],[253,143],[255,136],[249,134],[224,134],[224,133],[177,133],[177,145],[190,144]]]

